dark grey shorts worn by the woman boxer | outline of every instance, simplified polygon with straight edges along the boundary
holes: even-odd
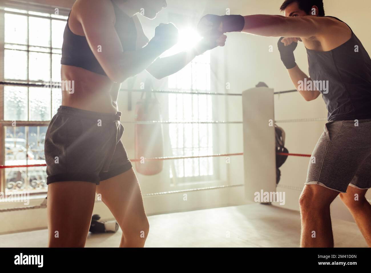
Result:
[[[100,181],[132,168],[121,142],[121,113],[104,114],[61,106],[45,136],[47,184]]]

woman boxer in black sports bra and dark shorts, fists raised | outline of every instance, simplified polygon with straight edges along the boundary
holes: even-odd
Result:
[[[45,139],[50,247],[85,246],[95,192],[121,227],[120,246],[144,246],[148,220],[120,140],[121,82],[144,69],[166,77],[226,39],[203,39],[189,51],[158,58],[177,43],[178,29],[160,24],[148,41],[136,14],[153,19],[165,7],[165,0],[77,0],[72,7],[62,47],[62,106]]]

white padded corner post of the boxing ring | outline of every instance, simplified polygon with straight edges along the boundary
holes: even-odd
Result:
[[[245,196],[276,191],[276,140],[273,89],[242,92]]]

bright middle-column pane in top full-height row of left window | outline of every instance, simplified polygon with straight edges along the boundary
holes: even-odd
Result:
[[[29,24],[29,44],[50,47],[50,19],[29,17]]]

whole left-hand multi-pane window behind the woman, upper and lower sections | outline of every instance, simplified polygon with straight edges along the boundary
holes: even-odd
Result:
[[[54,10],[54,9],[52,9]],[[66,16],[20,9],[4,11],[5,81],[25,83],[60,82],[60,58]],[[3,122],[5,165],[45,163],[44,140],[47,121],[61,104],[59,89],[3,87],[0,105]],[[46,191],[46,167],[12,168],[3,171],[2,189],[7,191]]]

